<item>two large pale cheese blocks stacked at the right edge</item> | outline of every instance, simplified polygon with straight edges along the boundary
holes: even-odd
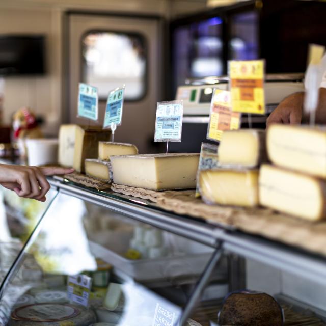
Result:
[[[274,166],[261,167],[261,205],[307,220],[326,218],[326,128],[272,125],[267,152]]]

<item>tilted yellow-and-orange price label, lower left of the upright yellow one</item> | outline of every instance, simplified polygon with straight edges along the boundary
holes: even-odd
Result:
[[[207,139],[220,141],[223,131],[237,130],[241,125],[241,114],[231,109],[231,93],[214,89],[209,113]]]

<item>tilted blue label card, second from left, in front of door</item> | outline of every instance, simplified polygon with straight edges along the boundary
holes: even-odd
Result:
[[[124,86],[116,88],[108,94],[103,128],[111,128],[113,125],[121,125],[124,88]]]

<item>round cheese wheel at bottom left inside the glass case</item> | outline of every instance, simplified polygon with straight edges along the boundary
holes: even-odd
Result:
[[[89,326],[96,322],[92,310],[70,304],[34,304],[16,308],[9,325],[12,326]]]

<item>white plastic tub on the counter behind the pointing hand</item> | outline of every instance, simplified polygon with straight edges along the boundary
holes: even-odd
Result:
[[[58,139],[27,139],[26,147],[30,166],[57,164]]]

